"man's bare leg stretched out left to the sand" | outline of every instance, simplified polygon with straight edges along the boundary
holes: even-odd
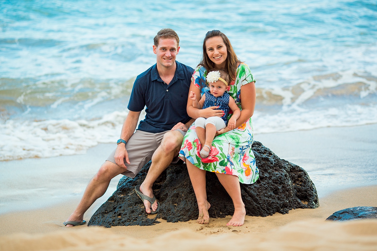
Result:
[[[83,198],[77,205],[75,211],[69,216],[66,221],[80,221],[84,219],[84,213],[88,208],[100,198],[109,187],[110,181],[116,175],[123,173],[124,168],[112,163],[111,161],[105,161],[98,170],[97,174],[89,181],[88,186],[85,189]],[[73,227],[72,224],[67,224],[66,227]]]

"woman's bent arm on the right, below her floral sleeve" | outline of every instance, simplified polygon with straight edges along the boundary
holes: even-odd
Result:
[[[256,99],[255,82],[250,82],[248,84],[241,86],[241,114],[236,122],[236,128],[245,123],[254,114]],[[216,136],[223,134],[224,132],[230,131],[228,127],[221,129],[216,132]]]

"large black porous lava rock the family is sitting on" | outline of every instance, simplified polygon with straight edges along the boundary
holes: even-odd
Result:
[[[265,217],[276,212],[285,214],[295,208],[319,206],[316,187],[304,169],[280,159],[258,141],[254,141],[252,149],[259,168],[259,179],[254,184],[241,184],[247,215]],[[157,218],[167,222],[198,219],[198,205],[185,164],[170,165],[156,180],[153,191],[159,200],[160,210],[154,214],[155,218],[147,217],[134,187],[143,182],[150,164],[146,164],[133,179],[121,178],[116,191],[93,214],[88,225],[145,226],[159,223]],[[210,217],[232,215],[233,203],[216,174],[207,172],[206,179]]]

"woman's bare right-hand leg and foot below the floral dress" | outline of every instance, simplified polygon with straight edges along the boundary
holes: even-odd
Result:
[[[233,201],[234,213],[233,217],[227,223],[227,226],[242,226],[245,221],[245,204],[241,197],[241,188],[239,186],[239,180],[236,175],[229,175],[225,173],[216,173],[222,186],[227,190],[230,198]]]

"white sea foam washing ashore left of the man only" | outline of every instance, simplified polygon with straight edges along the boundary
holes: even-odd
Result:
[[[99,120],[7,120],[0,125],[0,160],[83,154],[98,143],[113,143],[127,112],[113,112]]]

